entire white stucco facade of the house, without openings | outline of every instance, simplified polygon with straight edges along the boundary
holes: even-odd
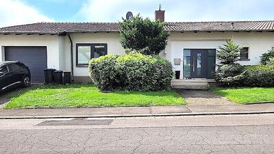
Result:
[[[113,33],[72,33],[73,69],[75,77],[88,76],[87,67],[76,66],[76,44],[105,43],[108,54],[123,55],[120,34]],[[174,70],[183,69],[182,63],[174,64],[175,58],[183,60],[184,49],[218,49],[225,40],[233,39],[241,47],[249,47],[249,60],[239,61],[243,65],[256,65],[260,55],[274,47],[274,33],[271,32],[198,32],[171,33],[166,49],[161,53],[170,60]],[[68,36],[58,35],[0,35],[0,60],[5,60],[6,46],[46,46],[47,67],[58,70],[71,70],[71,42]],[[181,78],[183,77],[181,73]]]

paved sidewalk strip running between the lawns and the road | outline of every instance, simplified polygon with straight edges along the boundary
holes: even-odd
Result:
[[[90,107],[3,110],[5,118],[101,118],[134,116],[197,116],[218,114],[274,114],[274,103],[253,105],[178,105],[150,107]]]

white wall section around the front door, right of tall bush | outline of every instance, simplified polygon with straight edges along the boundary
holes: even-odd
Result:
[[[238,61],[242,65],[260,64],[260,55],[274,46],[274,34],[271,32],[171,33],[165,53],[161,54],[173,63],[174,70],[181,70],[182,78],[184,49],[218,49],[227,39],[233,39],[242,47],[249,47],[249,60]],[[174,58],[181,58],[181,64],[175,65]]]

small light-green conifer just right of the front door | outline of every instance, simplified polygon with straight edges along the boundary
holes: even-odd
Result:
[[[221,64],[234,64],[237,60],[240,60],[240,51],[242,47],[234,44],[233,40],[227,40],[227,44],[223,44],[223,47],[219,47],[216,51],[216,57]]]

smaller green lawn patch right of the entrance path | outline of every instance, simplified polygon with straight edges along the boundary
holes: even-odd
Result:
[[[274,102],[274,88],[211,88],[212,92],[240,104]]]

